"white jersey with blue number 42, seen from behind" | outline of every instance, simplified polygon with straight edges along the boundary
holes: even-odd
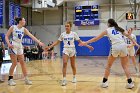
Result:
[[[114,27],[109,27],[107,29],[107,36],[109,37],[111,44],[124,42],[122,33],[117,31]]]

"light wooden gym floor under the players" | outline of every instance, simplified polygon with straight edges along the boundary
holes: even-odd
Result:
[[[25,85],[21,68],[18,64],[15,71],[16,86],[7,85],[7,75],[3,75],[5,83],[0,84],[0,93],[140,93],[140,77],[135,74],[130,63],[135,88],[126,89],[126,77],[119,59],[112,66],[109,87],[101,88],[107,57],[78,57],[77,83],[73,84],[70,64],[67,68],[67,86],[61,86],[62,59],[37,60],[27,62],[27,68],[33,85]],[[69,62],[70,63],[70,62]]]

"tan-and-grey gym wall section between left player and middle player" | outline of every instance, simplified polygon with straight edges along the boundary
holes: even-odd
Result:
[[[46,45],[49,41],[56,41],[61,34],[61,24],[63,23],[62,7],[54,10],[33,12],[32,25],[28,29],[36,33],[37,38]],[[56,46],[55,52],[60,55],[60,45]]]

